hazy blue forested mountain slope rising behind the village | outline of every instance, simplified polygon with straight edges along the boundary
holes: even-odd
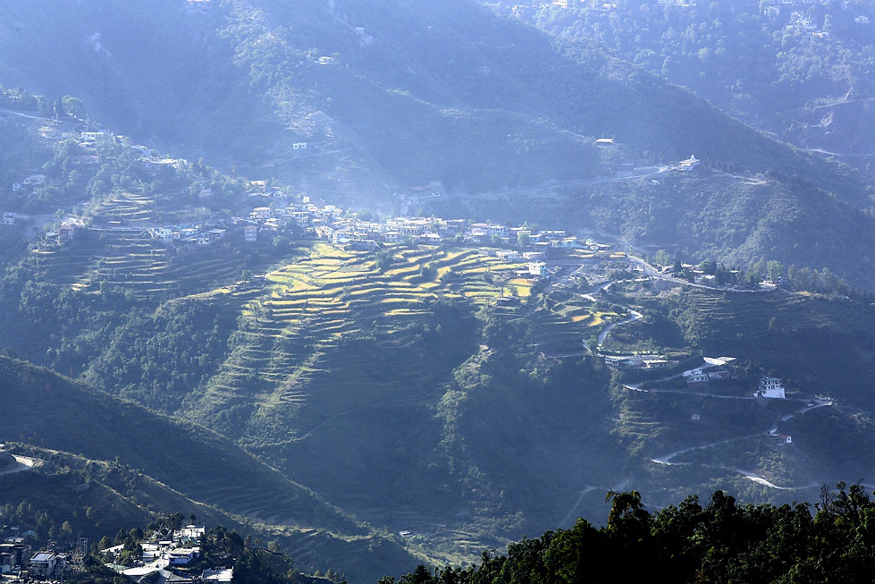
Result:
[[[683,89],[593,47],[565,53],[468,0],[9,9],[4,84],[82,97],[97,120],[189,159],[358,201],[430,181],[478,191],[593,177],[610,170],[592,144],[602,135],[668,160],[694,151],[837,180]],[[859,201],[862,185],[845,187]]]

